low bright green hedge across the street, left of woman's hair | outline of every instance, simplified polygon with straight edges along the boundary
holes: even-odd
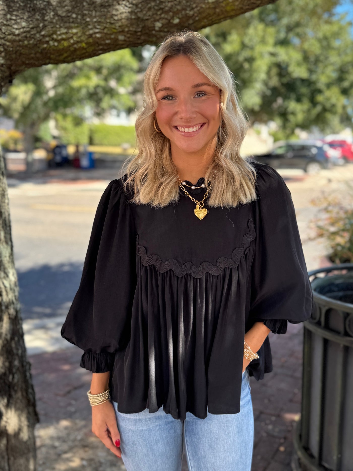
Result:
[[[64,144],[91,144],[93,146],[136,145],[135,126],[111,126],[78,122],[72,116],[56,115],[57,128]]]

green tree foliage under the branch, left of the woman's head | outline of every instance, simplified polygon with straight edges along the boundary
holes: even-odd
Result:
[[[130,90],[138,68],[130,49],[32,68],[16,76],[6,95],[0,97],[0,113],[24,130],[25,149],[31,152],[34,135],[50,116],[71,116],[79,125],[90,115],[100,117],[112,109],[132,111],[136,103]]]

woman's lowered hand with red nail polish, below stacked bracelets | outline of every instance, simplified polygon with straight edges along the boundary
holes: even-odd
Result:
[[[120,433],[114,406],[110,401],[92,406],[92,432],[102,440],[114,455],[121,458]]]

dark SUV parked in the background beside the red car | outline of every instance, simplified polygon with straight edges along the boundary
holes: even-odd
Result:
[[[307,173],[345,163],[339,150],[321,140],[279,141],[271,152],[254,155],[252,159],[274,169],[301,169]]]

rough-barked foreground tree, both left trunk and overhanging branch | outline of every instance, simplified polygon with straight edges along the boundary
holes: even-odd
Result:
[[[157,44],[276,0],[0,0],[0,93],[32,67]],[[0,149],[0,460],[4,471],[34,471],[39,422],[24,345]]]

